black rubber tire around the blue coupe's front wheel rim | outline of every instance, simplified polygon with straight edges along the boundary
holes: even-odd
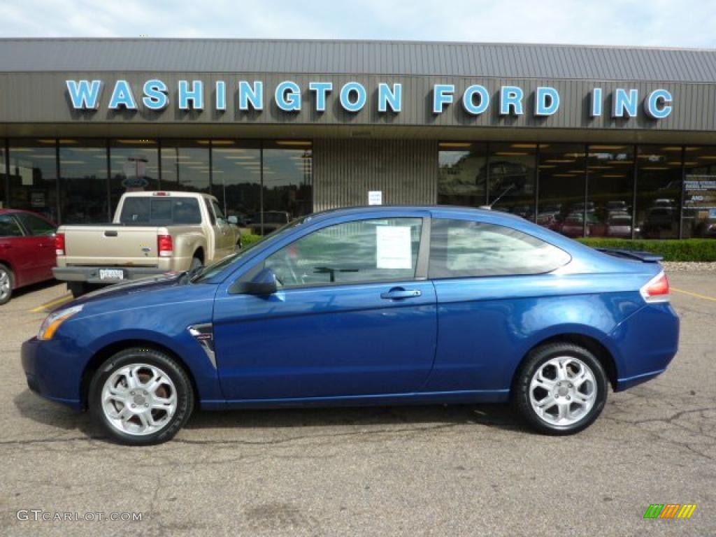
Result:
[[[129,364],[149,364],[170,377],[176,392],[176,410],[160,430],[136,435],[112,425],[102,409],[102,389],[110,375]],[[155,349],[132,347],[117,352],[97,369],[89,384],[89,411],[107,435],[124,445],[153,445],[171,440],[188,421],[194,407],[194,392],[188,374],[175,359]]]

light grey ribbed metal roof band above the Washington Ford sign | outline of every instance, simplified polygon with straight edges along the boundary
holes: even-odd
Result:
[[[715,82],[714,49],[242,39],[0,39],[0,72],[405,74]]]

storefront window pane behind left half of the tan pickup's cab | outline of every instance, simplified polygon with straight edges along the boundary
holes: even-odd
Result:
[[[159,190],[159,151],[156,140],[118,139],[110,142],[110,202],[112,214],[125,192]]]

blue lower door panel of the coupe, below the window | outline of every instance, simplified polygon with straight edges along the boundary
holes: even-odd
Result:
[[[421,295],[380,298],[396,287]],[[407,281],[222,296],[214,337],[228,400],[415,392],[435,358],[435,289]]]

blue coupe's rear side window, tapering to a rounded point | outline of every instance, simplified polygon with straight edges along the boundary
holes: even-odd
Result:
[[[431,279],[542,274],[569,263],[569,253],[505,226],[435,218]]]

